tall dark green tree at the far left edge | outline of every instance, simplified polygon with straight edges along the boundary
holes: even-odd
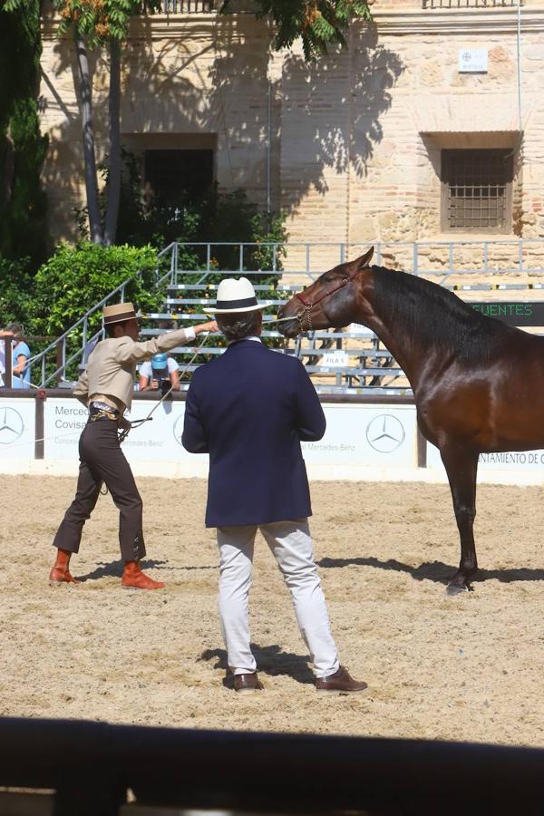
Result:
[[[10,15],[3,11],[12,11]],[[46,199],[40,172],[40,3],[0,0],[0,255],[37,266],[47,249]]]

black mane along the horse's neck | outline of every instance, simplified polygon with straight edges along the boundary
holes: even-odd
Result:
[[[385,267],[372,271],[375,312],[393,332],[417,337],[467,364],[491,361],[508,342],[507,325],[481,315],[448,289]]]

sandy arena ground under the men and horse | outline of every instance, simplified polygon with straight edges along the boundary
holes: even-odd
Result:
[[[152,577],[121,590],[117,511],[99,500],[73,572],[50,588],[51,540],[73,479],[4,477],[0,714],[117,723],[544,744],[540,488],[481,486],[482,578],[446,597],[459,559],[450,493],[313,484],[316,557],[343,662],[370,685],[316,695],[283,579],[258,539],[252,637],[266,691],[223,685],[214,531],[203,481],[140,480]]]

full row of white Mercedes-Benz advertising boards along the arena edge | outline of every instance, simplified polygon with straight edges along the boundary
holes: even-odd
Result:
[[[143,419],[157,403],[132,403],[131,419]],[[34,397],[0,396],[0,463],[4,472],[73,473],[87,410],[69,397],[49,397],[44,407],[44,461],[34,460]],[[417,425],[413,405],[324,403],[325,436],[303,442],[311,479],[446,481],[440,453],[427,444],[427,467],[417,467]],[[205,478],[209,457],[194,455],[181,445],[185,403],[160,404],[152,421],[134,428],[122,450],[136,475]],[[61,462],[63,461],[63,465]],[[32,464],[29,464],[29,462]],[[40,470],[41,468],[41,470]],[[14,471],[15,469],[15,471]],[[1,470],[1,468],[0,468]],[[503,484],[544,483],[544,449],[482,453],[479,481]]]

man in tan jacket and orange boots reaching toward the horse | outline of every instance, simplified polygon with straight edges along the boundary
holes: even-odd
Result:
[[[121,451],[118,430],[129,426],[123,414],[131,408],[136,364],[188,343],[200,332],[217,331],[217,324],[210,321],[138,343],[140,326],[131,303],[105,306],[103,320],[108,337],[92,351],[87,370],[73,390],[78,400],[88,406],[89,421],[79,442],[80,471],[75,498],[53,540],[57,557],[49,581],[78,583],[70,573],[70,558],[79,551],[83,525],[91,516],[103,482],[120,512],[122,587],[160,589],[165,586],[161,581],[154,581],[141,571],[139,562],[145,556],[143,505],[131,466]]]

